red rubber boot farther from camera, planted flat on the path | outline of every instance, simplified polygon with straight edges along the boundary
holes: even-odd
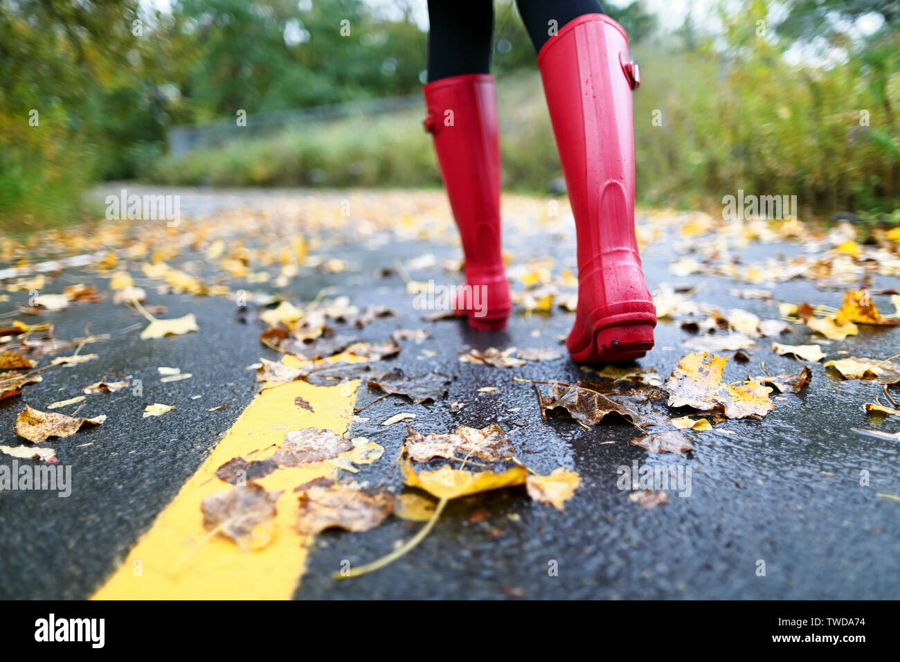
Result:
[[[456,310],[473,329],[506,328],[512,304],[500,253],[500,138],[494,77],[468,74],[422,88],[450,206],[463,240],[465,280],[472,291]],[[476,293],[474,288],[480,288]],[[477,308],[477,310],[476,310]]]

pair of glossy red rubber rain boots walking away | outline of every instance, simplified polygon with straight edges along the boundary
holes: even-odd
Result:
[[[640,84],[628,37],[585,14],[537,56],[578,239],[578,311],[566,346],[576,361],[644,356],[656,312],[635,239],[631,91]],[[466,284],[481,306],[460,305],[475,329],[506,326],[512,305],[500,252],[500,141],[494,79],[442,78],[423,88],[437,161],[463,240]]]

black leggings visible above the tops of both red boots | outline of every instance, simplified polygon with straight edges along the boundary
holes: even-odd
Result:
[[[604,14],[598,0],[516,0],[535,51],[583,14]],[[428,0],[428,80],[491,71],[492,0]]]

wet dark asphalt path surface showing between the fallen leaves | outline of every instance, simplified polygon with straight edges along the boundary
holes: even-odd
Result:
[[[240,195],[232,199],[244,204],[251,200]],[[196,204],[205,209],[210,200],[216,196]],[[517,259],[549,252],[558,264],[573,265],[571,238],[508,237],[507,248]],[[760,258],[779,250],[796,252],[797,247],[751,245],[746,255]],[[363,340],[386,340],[399,327],[426,328],[432,336],[419,346],[404,343],[398,358],[376,367],[401,367],[413,375],[436,369],[455,376],[444,401],[414,405],[392,396],[361,414],[370,420],[355,422],[350,436],[377,441],[385,453],[382,460],[361,467],[356,479],[380,481],[406,436],[402,424],[378,423],[394,413],[414,412],[415,427],[422,432],[500,422],[529,466],[540,473],[571,468],[582,477],[581,489],[564,512],[533,503],[524,488],[459,499],[450,503],[418,549],[379,572],[344,582],[330,578],[344,559],[359,565],[379,558],[397,541],[410,538],[420,524],[391,519],[365,533],[327,531],[314,543],[297,598],[900,597],[900,503],[876,495],[900,494],[897,442],[851,431],[872,427],[860,404],[872,401],[880,386],[842,381],[826,373],[824,363],[811,364],[812,384],[802,394],[776,396],[775,410],[763,421],[721,423],[715,431],[696,435],[695,449],[687,455],[649,454],[628,444],[638,435],[625,423],[601,423],[587,431],[568,419],[542,420],[531,385],[510,380],[585,378],[568,358],[509,370],[459,363],[458,349],[465,345],[563,349],[558,336],[569,330],[573,316],[558,310],[548,317],[516,315],[507,331],[495,333],[476,333],[458,322],[421,322],[401,277],[374,272],[395,259],[426,253],[439,260],[454,257],[456,251],[420,241],[371,249],[347,242],[329,249],[329,255],[347,260],[349,271],[299,278],[291,288],[297,301],[309,301],[323,286],[332,286],[334,294],[349,295],[356,304],[392,306],[400,316],[372,322],[359,332]],[[705,282],[700,296],[708,304],[778,318],[775,303],[728,295],[730,289],[748,285],[718,277],[672,277],[666,270],[670,261],[664,244],[644,252],[652,289],[663,281]],[[64,277],[58,289],[68,282],[90,282],[94,274],[67,270]],[[423,269],[413,277],[446,282],[447,272]],[[900,279],[878,278],[878,286],[898,287]],[[807,281],[779,284],[776,293],[777,300],[794,303],[837,306],[842,299],[842,292],[820,291]],[[23,296],[12,295],[12,303],[21,303]],[[877,296],[876,302],[891,309],[886,299]],[[152,303],[165,304],[166,317],[194,313],[202,332],[166,342],[141,341],[141,318],[108,300],[45,315],[56,325],[58,338],[83,336],[89,324],[91,333],[108,333],[111,339],[83,350],[98,353],[100,360],[61,368],[64,379],[46,375],[42,383],[26,387],[23,398],[0,403],[3,443],[18,443],[12,428],[22,402],[45,408],[77,394],[78,387],[96,381],[103,370],[132,375],[141,380],[143,390],[89,397],[78,415],[105,413],[108,421],[55,440],[60,462],[73,467],[70,497],[0,494],[0,598],[91,594],[253,397],[257,385],[246,367],[260,356],[277,358],[259,344],[258,322],[252,316],[239,320],[234,304],[225,298],[166,295]],[[783,341],[803,344],[807,334],[798,328]],[[657,348],[639,364],[656,367],[664,379],[688,353],[681,347],[687,338],[689,333],[678,322],[660,322]],[[860,335],[841,348],[857,356],[887,357],[900,351],[896,339],[895,330],[863,326]],[[767,339],[760,340],[761,347],[767,344]],[[421,349],[435,355],[419,358]],[[765,360],[772,374],[802,367],[791,358],[773,359],[769,352]],[[160,384],[159,366],[180,367],[193,378]],[[756,356],[743,365],[729,361],[726,378],[743,379],[748,372],[757,374],[758,368]],[[478,393],[482,386],[498,390]],[[197,394],[202,397],[192,400]],[[362,386],[358,405],[377,395]],[[466,404],[462,411],[451,411],[449,404],[455,401]],[[177,408],[141,419],[144,406],[152,403]],[[207,411],[220,404],[230,406]],[[508,411],[513,408],[519,409]],[[678,415],[684,413],[689,412]],[[900,424],[888,421],[881,428],[897,431]],[[690,467],[691,494],[670,493],[666,505],[639,507],[617,488],[617,467],[635,460]],[[860,485],[863,469],[869,471],[869,486]],[[387,485],[399,490],[398,471]],[[765,576],[757,574],[760,560],[765,561]],[[558,568],[555,576],[549,567]]]

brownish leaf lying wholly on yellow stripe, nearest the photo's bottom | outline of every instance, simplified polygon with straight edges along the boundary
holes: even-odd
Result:
[[[264,549],[275,540],[275,502],[281,494],[266,492],[257,483],[210,494],[200,504],[203,526],[241,549]]]

